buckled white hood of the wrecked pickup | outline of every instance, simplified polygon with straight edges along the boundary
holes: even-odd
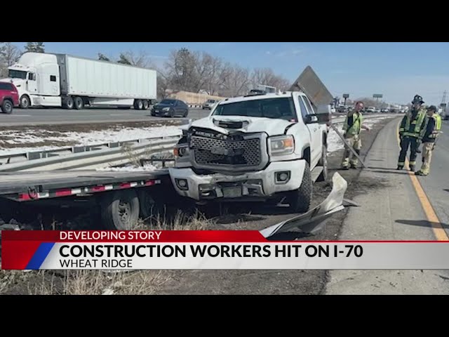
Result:
[[[220,121],[228,123],[241,123],[240,128],[232,128],[220,125]],[[264,117],[246,117],[246,116],[210,116],[193,121],[191,126],[196,128],[209,128],[220,133],[229,134],[232,131],[242,131],[246,133],[264,132],[268,136],[277,136],[284,133],[286,127],[295,124],[292,121],[283,119],[272,119]]]

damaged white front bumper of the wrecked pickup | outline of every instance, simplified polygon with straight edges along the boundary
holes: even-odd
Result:
[[[196,174],[192,169],[170,168],[170,178],[178,194],[195,199],[267,199],[279,192],[297,190],[302,183],[304,159],[275,161],[262,171],[236,176]]]

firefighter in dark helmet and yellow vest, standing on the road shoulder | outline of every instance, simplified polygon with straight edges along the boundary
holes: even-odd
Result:
[[[410,146],[410,171],[415,171],[417,150],[424,133],[426,119],[426,110],[422,107],[423,103],[422,97],[415,95],[412,100],[412,109],[406,113],[399,126],[401,152],[399,152],[398,170],[403,169],[406,163],[408,147]]]

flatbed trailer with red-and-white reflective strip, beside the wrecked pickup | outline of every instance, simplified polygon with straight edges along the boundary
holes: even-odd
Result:
[[[102,227],[128,230],[139,217],[156,216],[172,188],[167,169],[0,173],[0,218],[45,223],[57,210],[87,207],[99,211]]]

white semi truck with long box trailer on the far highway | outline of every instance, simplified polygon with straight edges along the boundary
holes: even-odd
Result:
[[[147,110],[156,100],[156,70],[58,53],[24,53],[8,67],[20,107],[134,107]]]

